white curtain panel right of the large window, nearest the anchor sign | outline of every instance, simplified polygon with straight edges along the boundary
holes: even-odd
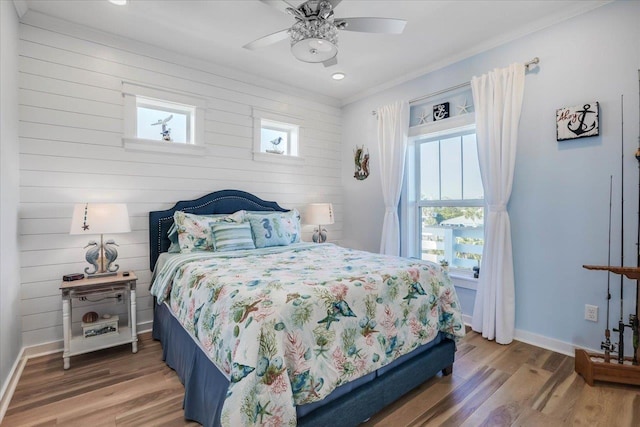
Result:
[[[509,344],[515,330],[515,283],[507,203],[513,183],[524,71],[523,64],[512,64],[471,79],[486,204],[484,251],[472,328],[500,344]]]

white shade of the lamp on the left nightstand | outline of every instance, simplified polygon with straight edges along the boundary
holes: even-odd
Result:
[[[124,203],[82,203],[73,208],[69,234],[128,233],[129,211]]]

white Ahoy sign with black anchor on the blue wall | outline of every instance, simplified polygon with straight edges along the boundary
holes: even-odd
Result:
[[[585,102],[575,107],[556,110],[556,140],[584,138],[600,134],[598,102]]]

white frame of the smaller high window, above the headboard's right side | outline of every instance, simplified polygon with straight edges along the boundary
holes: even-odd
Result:
[[[304,163],[301,144],[303,139],[303,120],[300,117],[256,107],[252,109],[252,117],[254,160],[276,163]],[[286,153],[276,154],[262,150],[263,128],[287,133]]]

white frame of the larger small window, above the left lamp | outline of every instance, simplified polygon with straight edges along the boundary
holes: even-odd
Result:
[[[191,94],[175,92],[136,83],[122,82],[124,97],[124,148],[134,151],[153,151],[201,155],[206,152],[204,142],[204,115],[206,100]],[[187,141],[164,141],[138,137],[138,107],[189,114]]]

